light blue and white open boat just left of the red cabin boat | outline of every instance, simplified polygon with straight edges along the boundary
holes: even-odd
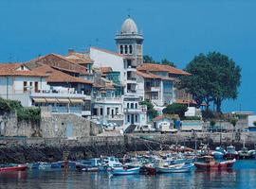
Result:
[[[193,163],[172,164],[167,166],[156,166],[156,173],[187,173],[192,171]]]

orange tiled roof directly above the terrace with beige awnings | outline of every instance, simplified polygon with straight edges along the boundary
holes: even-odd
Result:
[[[53,83],[53,82],[60,82],[60,83],[82,83],[82,84],[92,84],[91,81],[85,80],[81,77],[71,77],[68,74],[64,74],[63,72],[56,70],[46,64],[39,64],[38,67],[34,68],[33,71],[40,73],[40,74],[45,74],[46,81],[48,83]]]

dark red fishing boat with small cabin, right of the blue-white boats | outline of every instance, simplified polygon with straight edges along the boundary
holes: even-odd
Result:
[[[218,163],[211,156],[204,156],[203,162],[196,162],[194,166],[198,169],[225,169],[232,167],[233,163],[235,163],[235,159],[229,160],[226,162]]]

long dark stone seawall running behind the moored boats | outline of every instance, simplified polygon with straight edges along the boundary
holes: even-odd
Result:
[[[215,146],[236,146],[240,149],[244,142],[254,148],[256,133],[206,133],[182,132],[177,134],[134,133],[124,136],[90,136],[77,139],[64,138],[15,138],[0,139],[0,163],[31,163],[78,160],[113,155],[122,157],[129,151],[168,150],[171,145],[189,146],[200,144]],[[66,157],[64,157],[64,154]]]

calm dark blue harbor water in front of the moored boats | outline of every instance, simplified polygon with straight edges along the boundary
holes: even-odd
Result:
[[[0,188],[256,188],[256,161],[237,161],[232,169],[157,175],[114,176],[76,170],[0,173]]]

